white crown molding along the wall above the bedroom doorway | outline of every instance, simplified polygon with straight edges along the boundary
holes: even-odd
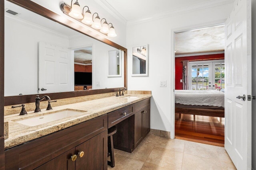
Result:
[[[180,15],[180,14],[186,14],[189,12],[212,8],[215,6],[222,6],[230,3],[234,3],[234,0],[210,0],[208,2],[202,2],[202,3],[194,4],[194,5],[183,7],[183,8],[178,8],[176,10],[170,10],[170,11],[154,14],[151,16],[138,18],[136,20],[129,20],[127,21],[127,25],[136,25],[136,24],[140,24],[148,21],[158,20],[162,18]]]

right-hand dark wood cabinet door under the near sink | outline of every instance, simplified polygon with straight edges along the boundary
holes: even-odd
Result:
[[[108,158],[108,132],[104,131],[99,135],[76,147],[76,170],[107,170]],[[79,157],[79,152],[84,152]]]

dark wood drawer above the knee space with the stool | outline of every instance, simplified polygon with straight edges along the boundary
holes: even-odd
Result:
[[[134,104],[108,113],[108,128],[134,114]]]

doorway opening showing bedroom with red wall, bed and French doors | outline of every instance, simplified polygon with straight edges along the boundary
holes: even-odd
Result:
[[[175,138],[224,146],[224,25],[175,33]]]

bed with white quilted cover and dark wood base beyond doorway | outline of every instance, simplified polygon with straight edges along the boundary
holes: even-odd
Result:
[[[175,113],[224,117],[224,92],[175,90]]]

